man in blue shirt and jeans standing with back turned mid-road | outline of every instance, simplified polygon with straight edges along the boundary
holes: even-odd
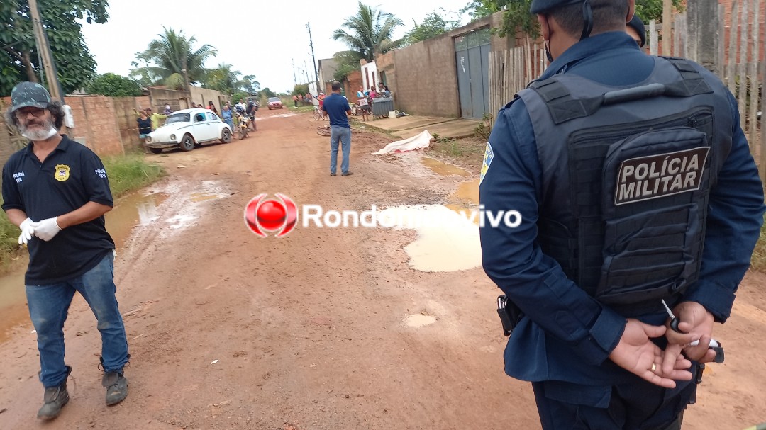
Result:
[[[351,108],[349,100],[340,95],[341,85],[338,81],[332,83],[332,93],[325,97],[322,110],[327,112],[330,119],[330,176],[336,175],[338,167],[338,143],[343,151],[340,164],[342,176],[352,174],[349,171],[349,154],[351,153],[351,125],[349,116]]]

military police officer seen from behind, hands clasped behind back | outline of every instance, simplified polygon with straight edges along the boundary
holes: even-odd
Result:
[[[680,428],[763,222],[732,94],[643,54],[633,6],[533,0],[551,64],[486,147],[485,213],[522,223],[481,228],[483,267],[518,317],[506,373],[545,429]]]

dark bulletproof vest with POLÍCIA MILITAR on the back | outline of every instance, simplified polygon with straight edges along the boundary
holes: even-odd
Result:
[[[518,96],[542,167],[542,251],[626,316],[695,282],[710,187],[732,147],[722,84],[660,57],[640,86],[564,73]]]

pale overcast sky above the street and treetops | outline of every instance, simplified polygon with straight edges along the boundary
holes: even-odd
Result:
[[[437,11],[444,18],[460,19],[459,10],[469,0],[372,0],[365,5],[378,7],[404,21],[394,37],[402,37],[413,28],[413,20]],[[444,8],[443,12],[440,8]],[[254,74],[261,88],[277,92],[293,88],[293,59],[298,83],[306,82],[306,72],[313,80],[309,31],[311,24],[317,62],[330,58],[344,44],[333,41],[336,28],[358,10],[356,0],[164,0],[135,2],[110,0],[106,24],[83,24],[83,37],[97,61],[98,73],[127,76],[136,53],[146,50],[149,41],[162,33],[162,26],[183,30],[194,36],[195,48],[211,44],[218,51],[205,64],[232,64],[243,75]],[[313,17],[313,18],[312,18]],[[305,68],[304,68],[305,64]]]

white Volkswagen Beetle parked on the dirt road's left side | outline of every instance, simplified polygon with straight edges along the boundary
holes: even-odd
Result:
[[[173,112],[165,125],[146,136],[149,151],[159,154],[163,148],[191,151],[208,142],[231,142],[231,129],[210,109],[182,109]]]

